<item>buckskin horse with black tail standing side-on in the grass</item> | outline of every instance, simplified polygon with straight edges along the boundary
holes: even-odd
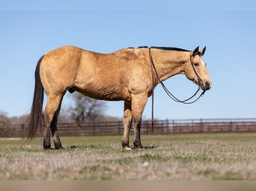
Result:
[[[102,54],[75,46],[64,46],[46,52],[35,69],[35,89],[25,129],[26,140],[34,139],[39,127],[44,149],[51,148],[50,132],[55,149],[63,149],[57,130],[61,102],[67,91],[77,91],[95,99],[124,101],[122,147],[131,150],[129,133],[133,126],[133,146],[142,149],[142,113],[148,97],[160,81],[185,74],[187,79],[199,85],[202,90],[210,90],[212,83],[202,59],[205,50],[206,47],[201,51],[199,47],[194,51],[170,47],[138,47]],[[151,73],[151,58],[159,78],[156,72]],[[47,103],[42,113],[44,92]]]

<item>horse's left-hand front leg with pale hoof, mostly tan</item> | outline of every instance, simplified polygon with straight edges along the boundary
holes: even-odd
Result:
[[[122,139],[122,146],[126,150],[131,150],[129,145],[129,135],[130,129],[132,127],[132,112],[131,112],[131,102],[124,102],[124,135]]]

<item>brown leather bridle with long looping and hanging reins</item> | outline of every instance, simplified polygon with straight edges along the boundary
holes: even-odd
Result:
[[[194,58],[192,59],[192,55],[191,55],[191,53],[190,53],[190,56],[189,56],[189,57],[190,57],[190,63],[191,63],[191,65],[192,65],[192,67],[193,67],[194,72],[195,72],[196,75],[197,75],[199,87],[198,87],[198,90],[196,91],[196,93],[195,93],[194,95],[192,95],[191,97],[189,97],[188,99],[186,99],[186,100],[181,101],[181,100],[179,100],[178,98],[176,98],[174,95],[172,95],[172,94],[168,91],[168,89],[167,89],[167,88],[164,86],[164,84],[161,82],[161,80],[160,80],[160,78],[159,78],[159,76],[158,76],[158,74],[157,74],[157,72],[156,72],[155,65],[154,65],[154,62],[153,62],[153,59],[152,59],[152,56],[151,56],[151,51],[150,51],[150,49],[151,49],[151,48],[149,48],[149,58],[150,58],[151,72],[152,72],[152,132],[154,132],[154,131],[153,131],[153,123],[154,123],[154,112],[153,112],[153,111],[154,111],[154,72],[153,72],[153,68],[154,68],[156,77],[157,77],[157,79],[159,80],[160,84],[162,85],[162,87],[163,87],[164,91],[166,92],[166,94],[167,94],[171,99],[173,99],[173,100],[176,101],[176,102],[185,103],[185,104],[194,103],[194,102],[196,102],[202,95],[204,95],[206,91],[204,90],[204,91],[202,92],[202,94],[201,94],[196,100],[191,101],[191,102],[186,102],[186,101],[188,101],[189,99],[191,99],[191,98],[193,98],[194,96],[197,95],[197,93],[199,92],[199,90],[201,89],[201,86],[202,86],[202,84],[203,84],[202,79],[200,78],[200,76],[198,75],[198,73],[197,73],[197,71],[196,71],[196,69],[195,69],[195,67],[194,67],[194,64],[193,64]]]

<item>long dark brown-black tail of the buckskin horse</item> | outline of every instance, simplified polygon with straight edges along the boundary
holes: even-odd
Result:
[[[26,122],[25,137],[27,140],[32,140],[35,138],[37,128],[39,126],[40,136],[42,136],[43,131],[43,120],[42,120],[42,107],[43,107],[43,86],[40,79],[39,69],[40,63],[44,55],[39,59],[36,69],[35,69],[35,90],[32,107],[28,120]]]

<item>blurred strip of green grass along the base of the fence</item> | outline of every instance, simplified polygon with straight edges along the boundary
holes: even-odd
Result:
[[[78,137],[60,137],[62,144],[81,145],[81,144],[101,144],[111,145],[120,144],[122,135],[114,136],[78,136]],[[0,139],[0,147],[3,146],[39,146],[42,145],[43,139],[35,138],[30,144],[25,144],[25,139]],[[130,143],[132,145],[133,135],[130,136]],[[193,144],[195,142],[219,142],[219,143],[255,143],[256,133],[193,133],[193,134],[151,134],[141,135],[141,142],[143,143],[176,143],[185,142],[186,144]],[[53,141],[51,140],[51,145]]]

